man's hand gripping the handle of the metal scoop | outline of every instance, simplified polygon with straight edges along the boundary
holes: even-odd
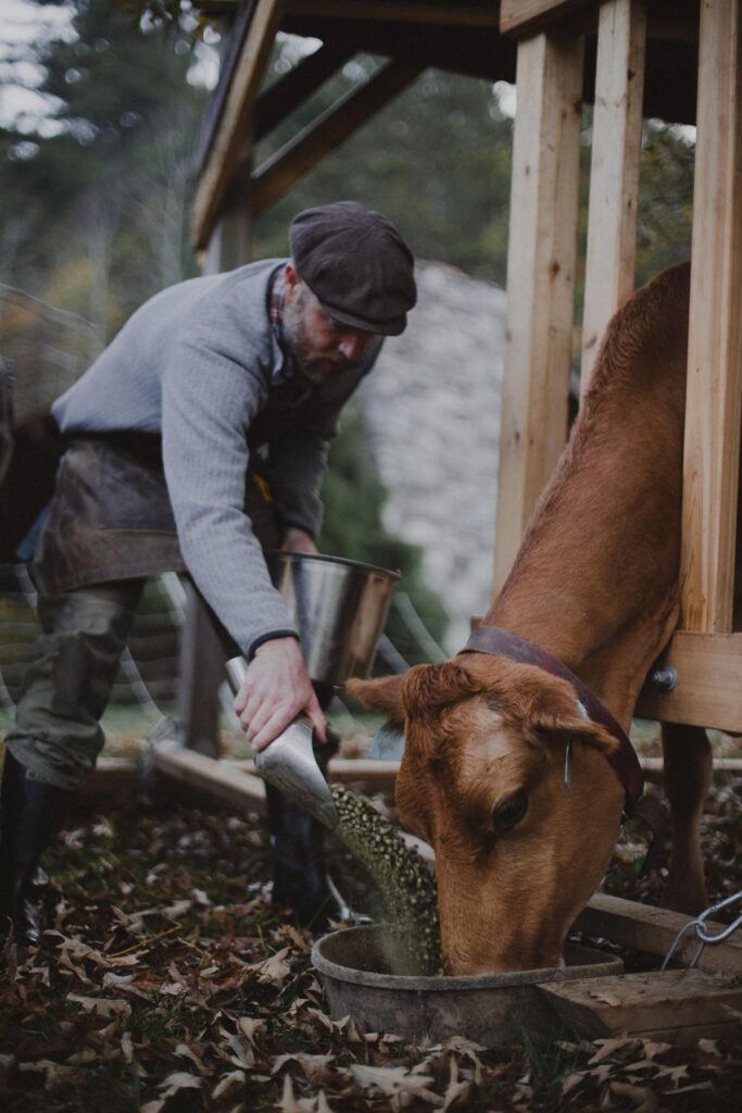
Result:
[[[301,711],[314,723],[319,741],[327,741],[327,721],[296,638],[274,638],[258,647],[235,699],[235,711],[256,750],[265,749]]]

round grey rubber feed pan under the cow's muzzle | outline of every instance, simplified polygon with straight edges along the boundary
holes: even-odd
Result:
[[[313,963],[333,1020],[350,1015],[366,1032],[410,1042],[465,1036],[486,1047],[506,1043],[520,1027],[553,1025],[536,986],[621,974],[623,962],[567,944],[566,964],[545,969],[465,977],[418,977],[405,972],[400,933],[384,925],[333,932],[318,939]]]

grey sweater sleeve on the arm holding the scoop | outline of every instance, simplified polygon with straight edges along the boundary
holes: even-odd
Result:
[[[296,632],[244,511],[247,430],[265,390],[249,353],[237,361],[211,337],[176,343],[162,374],[162,457],[180,549],[248,659]]]

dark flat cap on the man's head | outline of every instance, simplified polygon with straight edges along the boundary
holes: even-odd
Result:
[[[333,319],[383,336],[405,331],[415,259],[387,217],[336,201],[299,213],[288,235],[299,276]]]

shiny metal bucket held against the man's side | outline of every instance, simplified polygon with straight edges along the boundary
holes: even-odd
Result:
[[[339,556],[266,553],[301,640],[309,678],[342,684],[366,677],[398,572]]]

